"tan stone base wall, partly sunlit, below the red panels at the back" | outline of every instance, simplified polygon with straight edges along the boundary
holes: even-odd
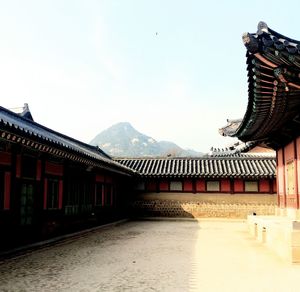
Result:
[[[250,197],[250,198],[249,198]],[[276,195],[142,194],[131,203],[139,217],[244,218],[249,214],[274,215]]]

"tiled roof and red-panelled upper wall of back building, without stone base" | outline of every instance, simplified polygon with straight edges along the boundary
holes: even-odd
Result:
[[[203,158],[123,158],[136,171],[136,191],[188,193],[276,192],[275,157],[240,153]]]

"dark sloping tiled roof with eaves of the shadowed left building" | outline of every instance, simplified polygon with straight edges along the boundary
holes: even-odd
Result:
[[[71,160],[81,162],[89,160],[103,168],[109,167],[112,170],[132,173],[131,170],[113,161],[98,147],[55,132],[3,107],[0,107],[0,138]]]

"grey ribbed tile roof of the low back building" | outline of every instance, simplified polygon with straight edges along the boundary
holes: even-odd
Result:
[[[123,158],[143,177],[274,178],[274,157]]]

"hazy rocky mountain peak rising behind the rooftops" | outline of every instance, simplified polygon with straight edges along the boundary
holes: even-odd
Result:
[[[201,156],[201,152],[185,150],[173,142],[158,142],[138,132],[130,123],[118,123],[99,133],[91,142],[114,157],[186,157]]]

